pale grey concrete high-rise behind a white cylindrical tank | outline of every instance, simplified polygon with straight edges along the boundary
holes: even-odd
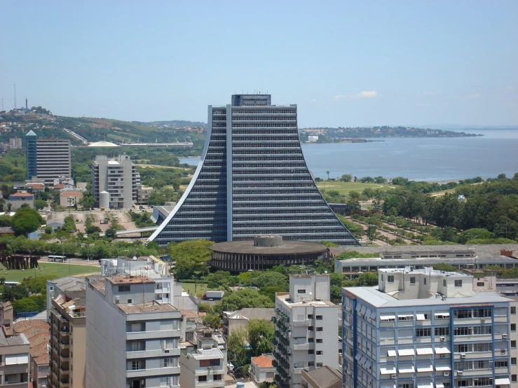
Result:
[[[116,160],[98,155],[92,165],[93,197],[102,202],[101,193],[109,193],[110,209],[131,209],[137,201],[140,174],[128,155],[119,155]],[[103,207],[100,204],[101,207]]]

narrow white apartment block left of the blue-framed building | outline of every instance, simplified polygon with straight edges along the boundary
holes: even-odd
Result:
[[[329,275],[291,275],[289,293],[275,296],[278,382],[301,387],[303,368],[338,368],[338,306],[329,301]]]

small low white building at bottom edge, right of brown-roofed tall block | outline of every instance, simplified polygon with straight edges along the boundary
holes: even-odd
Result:
[[[217,347],[198,347],[180,356],[180,387],[224,388],[226,353]]]

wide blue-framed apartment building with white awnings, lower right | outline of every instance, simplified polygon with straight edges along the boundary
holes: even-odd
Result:
[[[342,290],[344,387],[510,386],[510,299],[461,272],[378,273]]]

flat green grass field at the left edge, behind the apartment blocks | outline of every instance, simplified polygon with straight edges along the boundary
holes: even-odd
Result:
[[[93,265],[69,265],[67,263],[40,263],[39,270],[6,270],[4,265],[0,264],[0,276],[5,277],[7,282],[21,282],[24,277],[43,275],[54,275],[55,277],[86,275],[100,272],[100,270],[99,267]]]

